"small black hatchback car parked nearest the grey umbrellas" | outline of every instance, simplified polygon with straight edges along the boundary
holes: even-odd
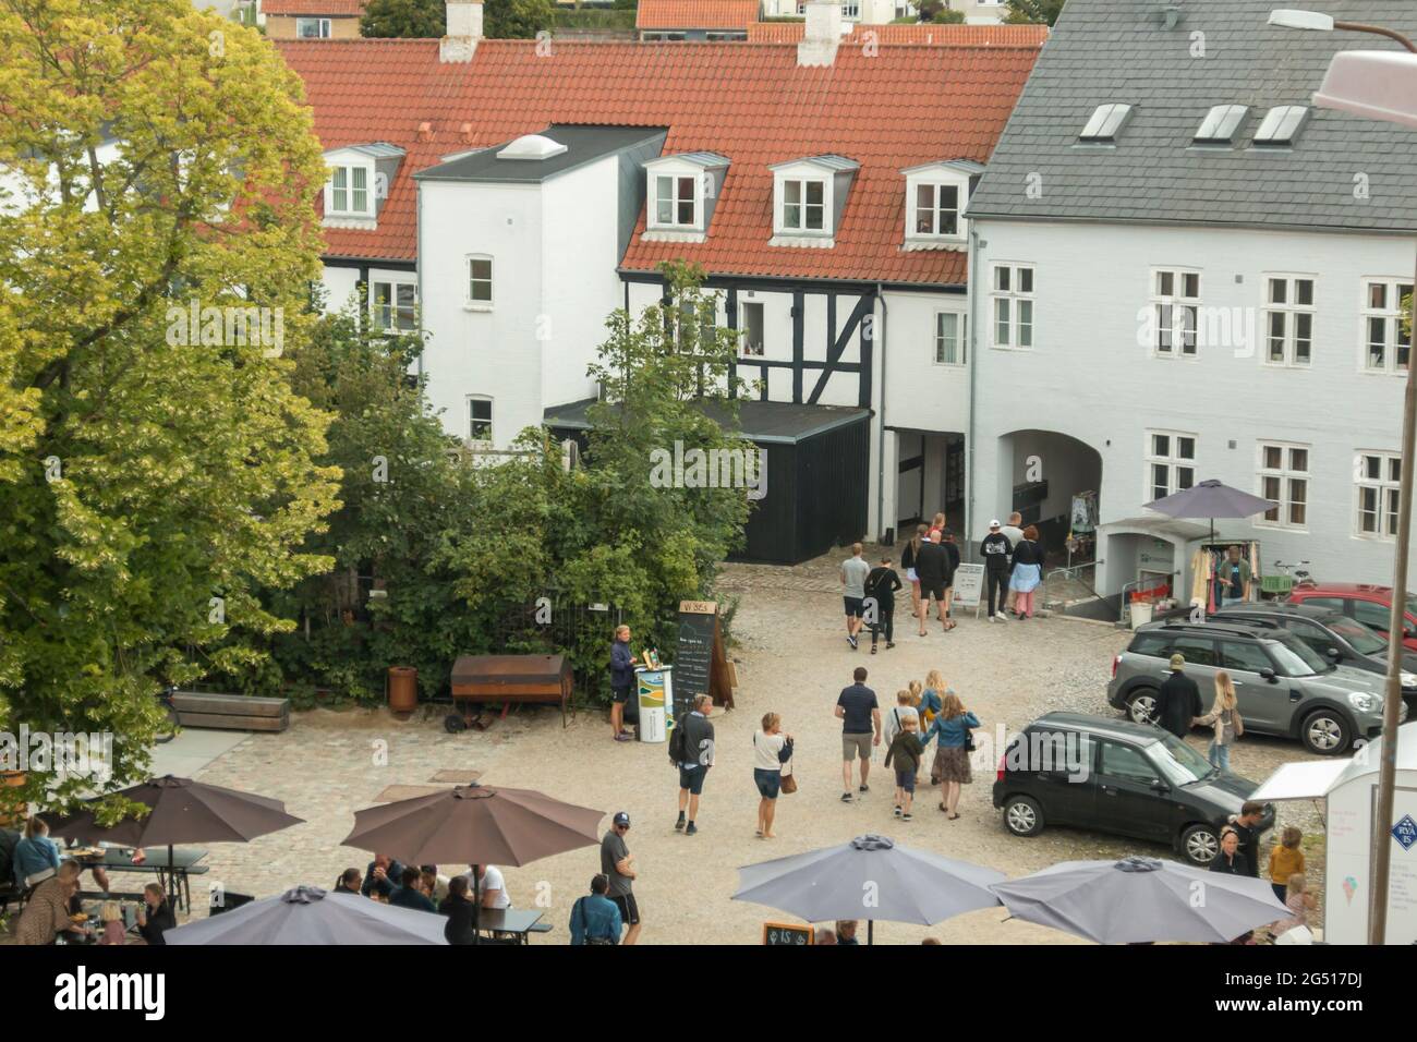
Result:
[[[1257,788],[1152,724],[1049,713],[1009,743],[993,805],[1016,836],[1074,825],[1170,844],[1192,865],[1209,865],[1220,824]],[[1265,804],[1260,831],[1272,825]]]

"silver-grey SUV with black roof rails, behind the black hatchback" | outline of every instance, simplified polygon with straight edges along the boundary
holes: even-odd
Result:
[[[1112,659],[1107,700],[1136,723],[1153,720],[1156,690],[1178,652],[1207,712],[1214,675],[1230,673],[1247,732],[1298,739],[1311,753],[1340,756],[1383,730],[1382,676],[1333,665],[1281,627],[1216,617],[1139,627]]]

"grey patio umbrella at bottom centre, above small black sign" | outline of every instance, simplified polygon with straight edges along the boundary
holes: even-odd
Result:
[[[999,899],[989,885],[1005,879],[993,869],[863,835],[840,846],[745,865],[733,899],[782,909],[809,923],[864,919],[870,944],[877,919],[930,926],[993,907]]]

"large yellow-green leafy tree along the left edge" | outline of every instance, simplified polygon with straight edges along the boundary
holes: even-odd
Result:
[[[285,356],[324,164],[299,79],[188,0],[0,0],[0,717],[113,734],[118,787],[160,686],[259,659],[256,593],[330,564]]]

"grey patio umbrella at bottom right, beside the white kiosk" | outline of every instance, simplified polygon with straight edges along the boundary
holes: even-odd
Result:
[[[1231,941],[1289,916],[1270,883],[1173,861],[1066,861],[996,883],[1013,919],[1098,944]]]

